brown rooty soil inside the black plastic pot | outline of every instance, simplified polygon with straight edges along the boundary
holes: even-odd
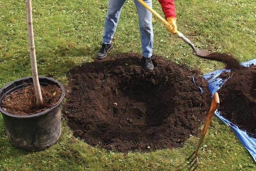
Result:
[[[10,93],[3,98],[1,107],[8,113],[15,115],[31,115],[45,111],[54,106],[62,95],[62,90],[55,85],[41,86],[43,105],[36,108],[36,94],[34,86],[30,85]]]

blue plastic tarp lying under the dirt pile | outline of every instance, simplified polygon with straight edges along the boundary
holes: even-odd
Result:
[[[245,67],[250,67],[251,64],[256,65],[256,59],[250,60],[248,62],[243,62],[241,65]],[[224,71],[230,72],[231,70],[222,69],[222,70],[216,70],[211,73],[207,73],[203,75],[203,78],[208,81],[208,89],[212,93],[212,95],[217,92],[229,79],[221,79],[218,78],[218,76],[223,73]],[[245,148],[250,152],[251,156],[253,157],[254,161],[256,162],[256,138],[248,136],[246,131],[240,130],[236,125],[225,119],[221,116],[220,111],[215,111],[215,115],[219,117],[223,122],[225,122],[227,125],[229,125],[230,128],[232,128],[242,144],[245,146]],[[256,124],[256,123],[255,123]]]

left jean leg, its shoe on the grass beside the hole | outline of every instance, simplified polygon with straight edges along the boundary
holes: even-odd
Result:
[[[110,44],[117,28],[118,19],[125,0],[109,0],[107,16],[105,18],[102,43]]]

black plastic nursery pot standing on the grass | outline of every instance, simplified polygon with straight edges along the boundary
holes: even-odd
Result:
[[[58,141],[61,135],[61,102],[65,97],[65,89],[60,82],[47,77],[39,77],[43,86],[57,85],[62,89],[60,100],[55,106],[43,112],[28,116],[13,115],[0,106],[0,112],[11,144],[26,151],[46,149]],[[33,83],[32,77],[13,81],[0,90],[0,104],[5,95],[22,89]]]

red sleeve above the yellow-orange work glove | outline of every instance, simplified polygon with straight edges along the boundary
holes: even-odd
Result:
[[[176,17],[174,0],[158,0],[162,6],[165,19],[168,17]]]

